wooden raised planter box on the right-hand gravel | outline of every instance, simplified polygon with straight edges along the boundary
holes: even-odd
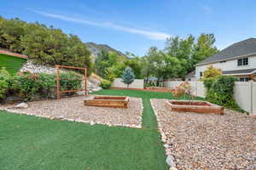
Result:
[[[224,107],[199,100],[167,100],[166,107],[171,111],[224,114]]]

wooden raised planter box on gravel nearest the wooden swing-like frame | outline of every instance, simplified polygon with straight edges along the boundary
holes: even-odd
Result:
[[[85,99],[84,105],[127,109],[128,102],[127,96],[95,96],[93,99]]]

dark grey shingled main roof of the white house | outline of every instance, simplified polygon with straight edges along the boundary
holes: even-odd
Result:
[[[206,65],[222,60],[234,59],[244,56],[250,56],[256,54],[256,38],[248,38],[241,42],[236,42],[227,48],[224,48],[218,54],[212,55],[197,65]]]

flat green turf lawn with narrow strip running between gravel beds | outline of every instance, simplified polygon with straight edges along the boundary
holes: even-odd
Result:
[[[167,170],[149,99],[172,99],[172,94],[137,90],[95,94],[143,98],[143,129],[90,126],[0,111],[1,170]]]

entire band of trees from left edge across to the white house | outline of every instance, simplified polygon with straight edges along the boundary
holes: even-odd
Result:
[[[126,67],[131,67],[136,78],[146,81],[148,77],[157,77],[158,82],[184,78],[195,64],[218,53],[214,42],[213,34],[170,37],[164,49],[151,47],[145,56],[126,53],[125,57],[102,51],[92,64],[90,51],[79,37],[54,26],[0,17],[0,48],[26,54],[36,64],[87,67],[109,81],[121,77]]]

